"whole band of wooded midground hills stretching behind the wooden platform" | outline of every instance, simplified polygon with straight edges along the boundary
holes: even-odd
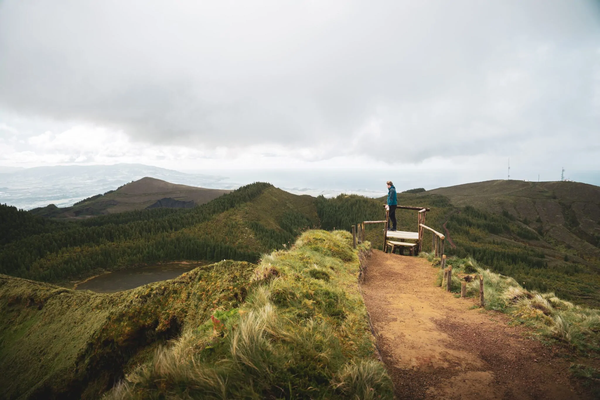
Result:
[[[528,290],[554,291],[578,304],[600,306],[600,258],[590,239],[600,229],[598,188],[575,182],[490,181],[412,191],[399,193],[398,203],[430,207],[425,223],[437,231],[445,233],[446,222],[457,246],[446,240],[447,254],[471,255]],[[193,209],[135,210],[78,221],[0,206],[8,227],[0,236],[0,273],[66,283],[103,270],[163,261],[256,262],[261,253],[288,246],[307,228],[350,231],[357,222],[381,220],[383,203],[385,197],[315,199],[253,184]],[[417,230],[416,212],[399,209],[397,218],[398,230]],[[383,224],[366,227],[365,238],[374,248],[383,248],[382,229]],[[562,242],[556,232],[567,232],[575,241]],[[430,249],[431,233],[425,231],[423,250]]]

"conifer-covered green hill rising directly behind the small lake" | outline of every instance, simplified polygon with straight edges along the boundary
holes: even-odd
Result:
[[[0,206],[2,218],[11,221],[25,218],[23,213]],[[256,262],[261,252],[284,248],[300,230],[318,225],[312,197],[260,183],[193,209],[138,210],[80,221],[35,218],[29,234],[9,237],[2,246],[0,273],[59,282],[98,269],[160,261]]]

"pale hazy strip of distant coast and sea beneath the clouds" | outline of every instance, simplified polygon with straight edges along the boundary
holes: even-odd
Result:
[[[559,174],[557,174],[559,175]],[[368,197],[384,196],[385,182],[394,182],[397,190],[413,188],[432,190],[478,180],[464,180],[465,175],[453,176],[449,171],[401,172],[373,169],[212,169],[172,170],[143,164],[113,164],[92,166],[50,166],[17,169],[12,172],[0,169],[0,203],[22,209],[56,204],[71,206],[79,200],[95,194],[105,193],[144,176],[163,179],[175,184],[184,184],[214,189],[235,189],[252,182],[269,182],[294,194],[309,194],[325,197],[340,193],[361,194]],[[600,172],[582,174],[584,179],[566,178],[588,184],[600,185]],[[506,177],[505,177],[506,178]],[[559,181],[542,179],[541,181]],[[490,176],[489,181],[502,179]],[[517,180],[517,179],[515,179]],[[521,179],[536,181],[536,179]]]

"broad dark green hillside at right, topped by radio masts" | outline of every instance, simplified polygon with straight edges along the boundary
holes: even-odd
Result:
[[[456,207],[457,248],[526,288],[600,306],[600,188],[578,182],[487,181],[430,190]],[[439,226],[439,228],[443,228]]]

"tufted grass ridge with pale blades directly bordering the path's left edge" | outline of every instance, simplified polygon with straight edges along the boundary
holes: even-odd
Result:
[[[392,398],[351,239],[308,231],[289,251],[265,255],[239,308],[185,326],[108,398]]]

